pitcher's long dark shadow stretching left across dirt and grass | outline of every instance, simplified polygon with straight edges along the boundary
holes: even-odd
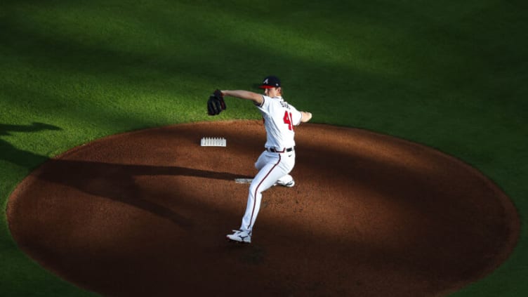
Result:
[[[58,126],[34,122],[31,125],[0,124],[0,136],[12,136],[11,132],[38,132],[45,130],[62,130]],[[206,171],[179,166],[149,166],[110,164],[97,161],[49,159],[26,150],[20,150],[8,141],[0,138],[0,159],[34,169],[43,164],[37,177],[51,183],[74,187],[81,192],[105,197],[117,202],[143,209],[154,215],[171,220],[173,223],[192,228],[192,221],[172,209],[147,199],[143,199],[141,190],[136,185],[134,176],[196,176],[218,180],[250,178],[235,173]]]

